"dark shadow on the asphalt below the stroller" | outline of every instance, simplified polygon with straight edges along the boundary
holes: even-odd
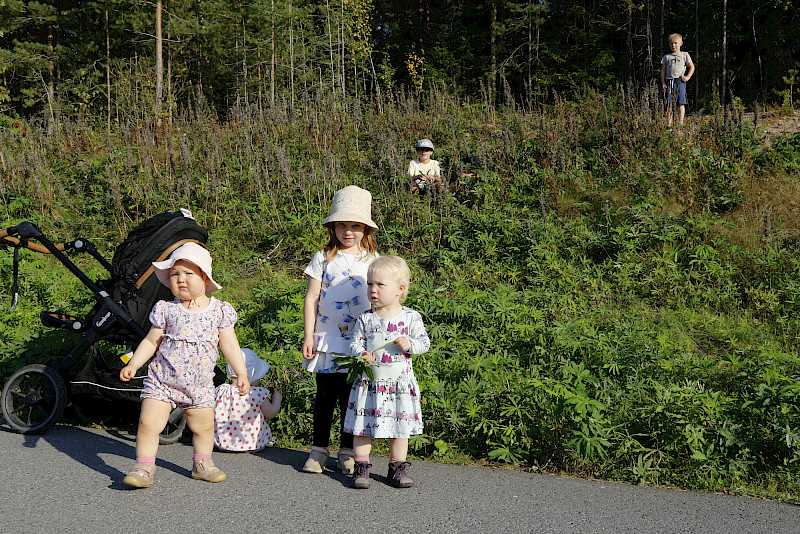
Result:
[[[0,424],[0,431],[14,433],[5,423]],[[108,465],[100,454],[113,454],[129,458],[131,467],[133,467],[136,458],[136,437],[119,431],[106,430],[106,432],[110,434],[109,437],[88,432],[78,426],[57,425],[44,434],[25,434],[23,446],[33,449],[38,446],[39,441],[44,441],[76,462],[109,477],[111,479],[111,484],[108,485],[109,489],[128,491],[132,488],[122,483],[122,479],[127,473]],[[165,460],[156,459],[156,465],[183,476],[192,474],[189,469]]]

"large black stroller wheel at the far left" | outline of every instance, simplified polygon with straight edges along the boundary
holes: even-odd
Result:
[[[67,387],[58,371],[26,365],[3,388],[3,417],[16,432],[38,434],[56,424],[67,405]]]

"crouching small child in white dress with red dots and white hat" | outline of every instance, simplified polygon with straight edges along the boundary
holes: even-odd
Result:
[[[247,380],[258,384],[269,364],[250,349],[242,349],[247,368]],[[228,376],[236,372],[228,364]],[[281,409],[283,395],[262,387],[251,387],[247,395],[239,395],[233,384],[217,386],[217,405],[214,408],[214,445],[223,451],[260,451],[274,443],[267,421],[274,419]]]

